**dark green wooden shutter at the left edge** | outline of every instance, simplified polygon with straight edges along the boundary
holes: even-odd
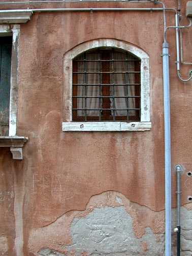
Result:
[[[0,37],[0,136],[9,136],[12,37]]]

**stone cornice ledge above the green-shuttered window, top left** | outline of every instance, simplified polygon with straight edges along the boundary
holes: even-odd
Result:
[[[3,23],[26,23],[33,14],[30,10],[5,10],[0,11],[0,24]]]

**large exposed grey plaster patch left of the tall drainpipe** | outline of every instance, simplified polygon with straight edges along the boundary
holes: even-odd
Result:
[[[124,206],[95,208],[86,217],[74,218],[70,233],[72,245],[62,249],[75,249],[76,256],[87,251],[88,255],[144,255],[143,241],[150,241],[147,255],[162,255],[163,235],[158,238],[150,228],[142,238],[136,238],[132,218]],[[49,254],[47,254],[49,255]]]

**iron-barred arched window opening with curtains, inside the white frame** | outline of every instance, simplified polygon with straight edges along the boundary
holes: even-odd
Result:
[[[73,121],[140,121],[140,59],[116,49],[73,60]]]

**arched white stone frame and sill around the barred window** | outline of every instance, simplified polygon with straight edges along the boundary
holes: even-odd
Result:
[[[141,120],[139,122],[74,122],[72,120],[72,83],[73,59],[79,54],[100,47],[116,48],[134,54],[141,60]],[[149,56],[142,49],[116,39],[98,39],[84,42],[69,50],[63,58],[63,106],[64,120],[63,132],[73,131],[148,131],[150,122],[150,83],[149,83]]]

